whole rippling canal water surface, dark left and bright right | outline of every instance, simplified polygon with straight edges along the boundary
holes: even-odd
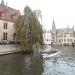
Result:
[[[54,46],[53,48],[60,53],[46,58],[22,53],[1,55],[0,75],[75,75],[75,47]]]

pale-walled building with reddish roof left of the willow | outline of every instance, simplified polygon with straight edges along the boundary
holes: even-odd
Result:
[[[14,41],[15,39],[15,21],[20,15],[16,9],[8,7],[1,1],[0,4],[0,42]]]

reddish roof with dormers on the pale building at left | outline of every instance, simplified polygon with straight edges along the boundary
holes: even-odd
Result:
[[[3,1],[1,2],[1,4],[0,4],[0,19],[15,22],[15,20],[18,16],[20,16],[19,10],[8,7],[8,6],[4,5]]]

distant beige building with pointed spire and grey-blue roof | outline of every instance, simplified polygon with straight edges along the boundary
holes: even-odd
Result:
[[[75,31],[74,26],[73,28],[61,28],[56,29],[55,23],[53,20],[52,25],[52,44],[54,45],[72,45],[72,43],[75,43]]]

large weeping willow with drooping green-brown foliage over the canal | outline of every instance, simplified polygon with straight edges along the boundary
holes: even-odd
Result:
[[[23,51],[33,51],[43,44],[42,26],[34,12],[27,6],[24,15],[16,20],[16,42]],[[35,47],[36,46],[36,47]]]

